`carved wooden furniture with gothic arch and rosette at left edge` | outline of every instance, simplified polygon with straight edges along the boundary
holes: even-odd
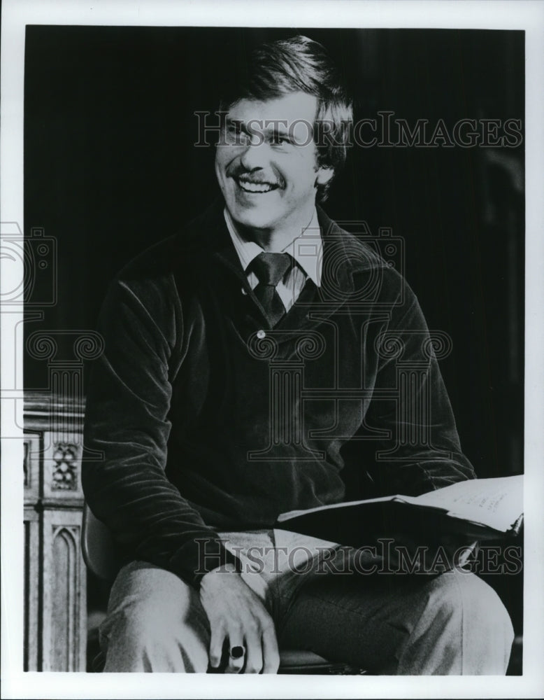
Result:
[[[25,397],[24,669],[85,671],[83,405]],[[67,429],[69,426],[70,430]]]

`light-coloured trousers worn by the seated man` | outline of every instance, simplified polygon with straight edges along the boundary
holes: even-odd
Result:
[[[510,617],[472,573],[366,573],[354,549],[282,530],[222,538],[271,613],[280,649],[371,673],[506,673]],[[152,564],[122,568],[100,633],[105,671],[208,670],[210,625],[199,592]]]

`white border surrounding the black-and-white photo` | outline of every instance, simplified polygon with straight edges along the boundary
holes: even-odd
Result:
[[[524,659],[520,677],[218,676],[22,671],[22,309],[1,314],[2,658],[6,698],[541,697],[544,692],[544,2],[489,0],[3,0],[0,221],[23,229],[26,25],[522,29],[526,37]],[[3,262],[3,261],[1,261]],[[4,268],[6,269],[6,268]],[[17,275],[10,265],[9,275]],[[2,289],[13,279],[2,276]],[[22,269],[20,277],[22,279]],[[2,309],[6,311],[6,309]],[[17,368],[15,371],[14,368]],[[19,392],[19,393],[17,393]]]

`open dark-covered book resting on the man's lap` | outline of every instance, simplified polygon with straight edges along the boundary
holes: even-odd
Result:
[[[523,476],[469,479],[421,496],[385,496],[292,510],[276,526],[343,545],[394,533],[433,538],[460,533],[480,540],[511,537],[523,522]]]

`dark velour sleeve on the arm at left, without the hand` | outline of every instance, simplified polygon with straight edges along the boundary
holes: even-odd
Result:
[[[103,355],[87,382],[83,489],[92,512],[132,559],[195,587],[208,571],[240,562],[165,474],[171,367],[182,344],[173,279],[110,287],[99,321]],[[181,360],[179,360],[181,361]],[[96,458],[96,451],[101,458]]]

